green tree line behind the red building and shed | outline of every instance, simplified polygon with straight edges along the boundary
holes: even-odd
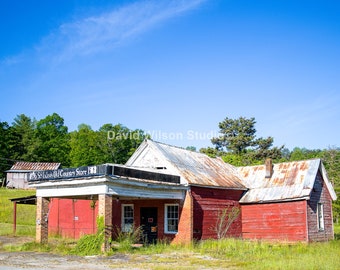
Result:
[[[212,138],[213,146],[199,151],[211,157],[219,156],[235,166],[263,164],[266,158],[274,162],[321,158],[340,195],[340,148],[295,147],[290,151],[283,145],[273,146],[273,137],[258,138],[255,124],[255,118],[226,117],[218,124],[220,135]],[[59,162],[63,167],[124,164],[146,138],[149,135],[143,130],[132,130],[122,124],[104,124],[98,130],[80,124],[77,130],[69,132],[57,113],[38,121],[20,114],[11,125],[0,122],[0,179],[4,179],[5,171],[15,161]],[[187,149],[196,151],[194,146]],[[339,201],[333,204],[337,218],[340,217]]]

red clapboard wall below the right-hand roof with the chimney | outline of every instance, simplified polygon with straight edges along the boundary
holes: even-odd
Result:
[[[242,205],[243,238],[307,241],[306,201]]]

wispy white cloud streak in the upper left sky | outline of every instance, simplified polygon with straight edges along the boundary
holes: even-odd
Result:
[[[100,15],[64,23],[42,42],[38,50],[44,57],[51,55],[59,61],[110,50],[167,19],[199,7],[204,1],[135,2]]]

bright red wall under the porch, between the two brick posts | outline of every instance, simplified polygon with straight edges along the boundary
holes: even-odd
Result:
[[[92,200],[51,198],[49,203],[49,234],[79,238],[96,232],[98,203]]]

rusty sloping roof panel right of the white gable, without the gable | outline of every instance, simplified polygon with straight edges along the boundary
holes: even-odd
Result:
[[[210,158],[205,154],[188,151],[163,143],[148,141],[186,179],[188,184],[246,189],[237,169],[220,158]]]

